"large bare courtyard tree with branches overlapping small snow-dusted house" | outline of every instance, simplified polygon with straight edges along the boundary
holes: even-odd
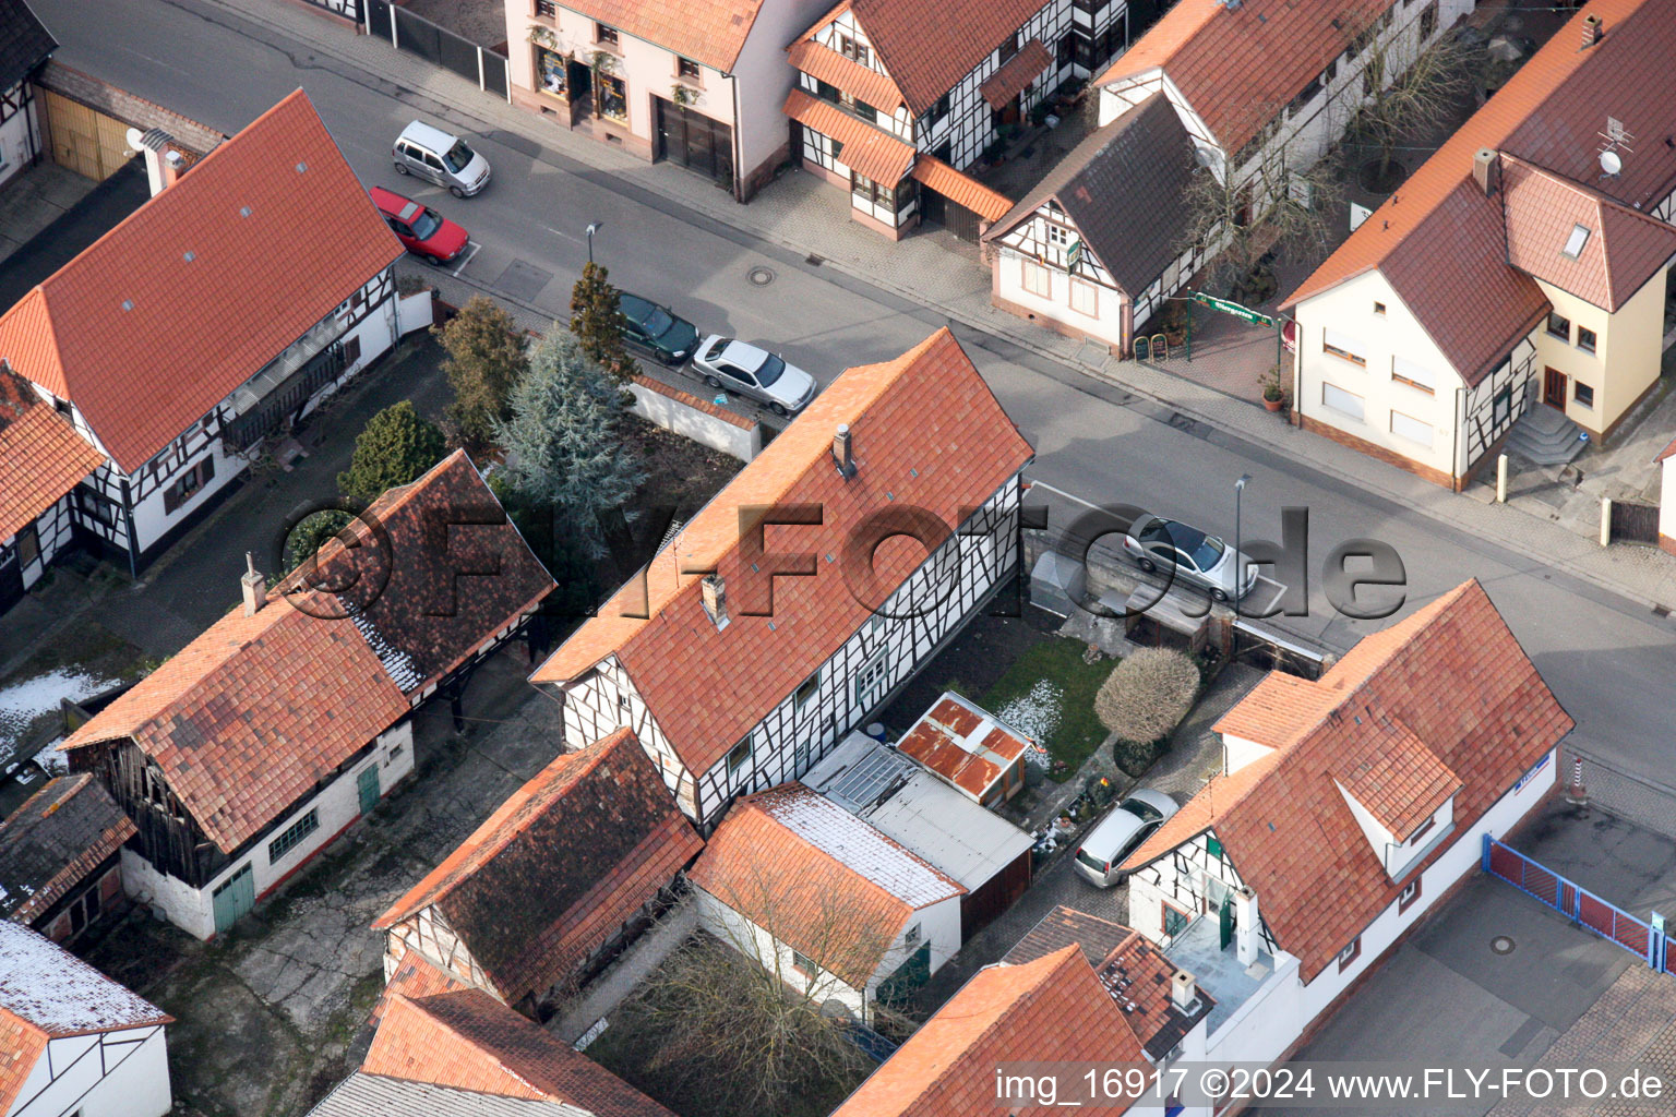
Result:
[[[622,1022],[655,1037],[645,1072],[691,1117],[788,1112],[821,1090],[836,1104],[870,1070],[838,1005],[898,961],[900,928],[831,881],[761,864],[734,876],[716,896],[729,908],[719,936],[701,931],[670,955]],[[870,1018],[880,1013],[893,1015]]]

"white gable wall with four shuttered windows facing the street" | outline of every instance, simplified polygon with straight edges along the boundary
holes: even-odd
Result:
[[[1384,303],[1383,315],[1374,303]],[[1297,383],[1294,407],[1306,417],[1346,434],[1373,442],[1421,466],[1455,474],[1455,397],[1465,387],[1460,373],[1425,332],[1391,285],[1378,271],[1322,291],[1297,305]],[[1332,330],[1363,345],[1368,367],[1358,367],[1322,348],[1324,332]],[[1428,368],[1436,378],[1431,395],[1391,378],[1394,358]],[[1363,397],[1363,419],[1326,407],[1322,383],[1332,383]],[[1391,412],[1431,425],[1431,447],[1391,432]],[[1466,467],[1461,461],[1460,469]]]

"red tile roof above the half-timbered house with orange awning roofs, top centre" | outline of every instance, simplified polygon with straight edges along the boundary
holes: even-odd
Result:
[[[897,82],[913,116],[960,84],[1022,28],[1048,0],[987,0],[935,5],[910,0],[850,0],[828,12],[804,39],[843,12],[855,15],[885,72]]]

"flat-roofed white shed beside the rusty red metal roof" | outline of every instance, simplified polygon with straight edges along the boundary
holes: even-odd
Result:
[[[850,734],[803,782],[959,881],[962,941],[1031,884],[1029,834],[872,737]]]

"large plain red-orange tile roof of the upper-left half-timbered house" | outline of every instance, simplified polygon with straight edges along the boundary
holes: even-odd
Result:
[[[0,317],[0,358],[134,472],[401,255],[297,90]]]

